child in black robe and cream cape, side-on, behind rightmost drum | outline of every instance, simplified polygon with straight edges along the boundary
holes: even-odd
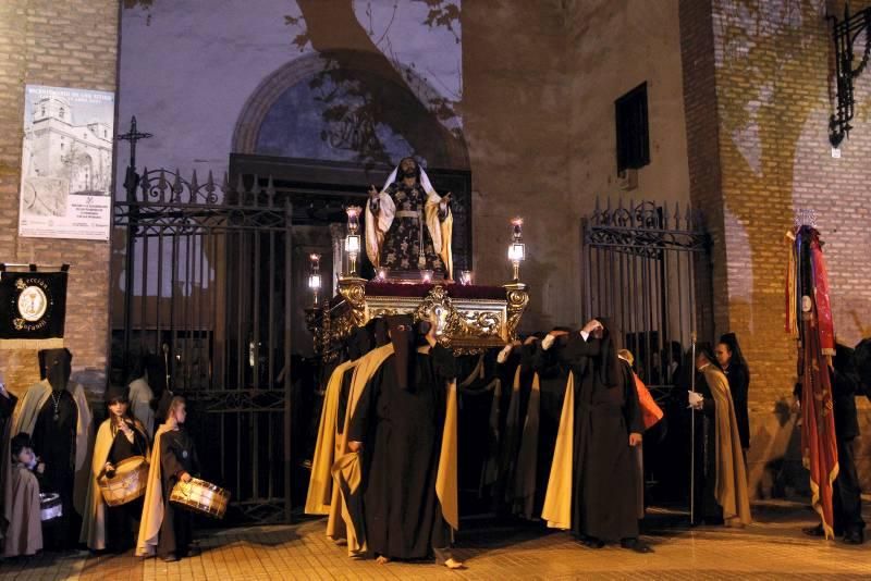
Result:
[[[155,433],[148,490],[136,545],[138,556],[151,556],[157,552],[157,556],[164,561],[174,561],[199,553],[198,547],[191,546],[191,512],[170,503],[175,484],[191,482],[194,474],[199,472],[194,438],[184,430],[187,417],[185,408],[184,397],[173,396],[165,422]]]

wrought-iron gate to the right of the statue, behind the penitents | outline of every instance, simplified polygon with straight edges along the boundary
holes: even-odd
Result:
[[[692,369],[685,354],[694,333],[713,338],[710,238],[689,207],[619,201],[612,208],[609,200],[602,209],[597,200],[584,243],[585,314],[611,318],[665,411],[645,435],[647,500],[683,507],[690,442],[684,390]]]

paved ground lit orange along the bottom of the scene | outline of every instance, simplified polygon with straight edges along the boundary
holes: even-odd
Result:
[[[868,503],[866,503],[868,508]],[[871,517],[867,510],[866,520]],[[537,527],[467,530],[456,556],[468,565],[447,571],[433,564],[352,560],[324,536],[322,520],[293,526],[200,531],[203,554],[165,564],[87,552],[45,554],[0,563],[0,578],[229,581],[235,579],[871,579],[871,541],[859,547],[805,536],[813,514],[795,504],[755,506],[757,522],[744,530],[673,527],[664,514],[648,517],[638,555],[609,546],[584,548],[563,532]]]

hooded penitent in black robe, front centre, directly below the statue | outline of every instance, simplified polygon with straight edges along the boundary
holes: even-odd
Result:
[[[424,558],[447,547],[449,523],[457,526],[456,364],[441,345],[417,346],[422,327],[409,317],[388,323],[394,353],[363,390],[347,430],[363,444],[363,481],[345,482],[346,504],[352,508],[354,490],[363,492],[369,549]]]

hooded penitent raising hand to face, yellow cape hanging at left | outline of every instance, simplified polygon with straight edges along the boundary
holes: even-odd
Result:
[[[637,463],[628,442],[643,424],[608,320],[597,320],[601,333],[569,333],[560,356],[572,371],[542,518],[552,528],[615,541],[638,535]]]

